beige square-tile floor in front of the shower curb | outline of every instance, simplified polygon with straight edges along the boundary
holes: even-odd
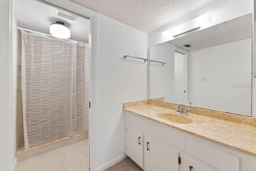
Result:
[[[88,139],[19,161],[15,171],[88,171]]]

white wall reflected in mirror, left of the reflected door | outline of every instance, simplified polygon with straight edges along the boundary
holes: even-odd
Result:
[[[150,60],[165,62],[150,62],[150,99],[164,97],[165,101],[173,101],[173,76],[174,76],[174,50],[173,45],[162,43],[150,47]]]

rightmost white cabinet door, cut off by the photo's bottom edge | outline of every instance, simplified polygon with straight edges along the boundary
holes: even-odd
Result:
[[[185,170],[184,171],[214,171],[210,167],[186,156],[185,157]]]

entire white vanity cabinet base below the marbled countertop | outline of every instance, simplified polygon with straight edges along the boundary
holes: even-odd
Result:
[[[240,157],[172,129],[126,113],[125,153],[145,171],[247,171],[250,167],[240,169]]]

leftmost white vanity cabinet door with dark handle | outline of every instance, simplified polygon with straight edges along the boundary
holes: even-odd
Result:
[[[143,133],[128,125],[126,142],[126,154],[140,167],[143,167]]]

